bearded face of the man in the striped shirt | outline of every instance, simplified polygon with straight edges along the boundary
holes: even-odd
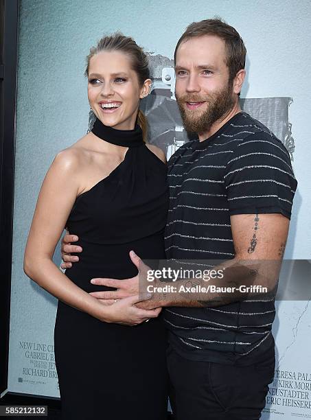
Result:
[[[235,104],[224,41],[205,35],[185,40],[176,52],[176,100],[185,129],[205,133]]]

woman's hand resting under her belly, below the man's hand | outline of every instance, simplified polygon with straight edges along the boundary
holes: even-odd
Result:
[[[106,323],[128,325],[129,327],[139,325],[150,318],[157,318],[161,312],[160,307],[155,310],[143,310],[135,306],[135,303],[148,299],[150,299],[150,296],[141,298],[136,295],[120,299],[116,302],[113,301],[113,304],[109,304],[108,306],[106,303],[100,303],[103,305],[102,307],[105,307],[105,310],[103,311],[99,307],[96,318]]]

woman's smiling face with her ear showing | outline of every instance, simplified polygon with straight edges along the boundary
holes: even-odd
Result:
[[[119,51],[101,51],[89,62],[89,103],[105,126],[133,130],[139,100],[148,95],[150,79],[139,86],[130,58]]]

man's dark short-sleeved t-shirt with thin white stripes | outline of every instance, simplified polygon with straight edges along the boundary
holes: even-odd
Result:
[[[230,216],[281,213],[290,218],[297,181],[284,145],[242,112],[209,139],[189,141],[168,164],[166,256],[172,261],[231,259]],[[273,346],[274,301],[219,307],[169,307],[171,345],[186,358],[251,363]]]

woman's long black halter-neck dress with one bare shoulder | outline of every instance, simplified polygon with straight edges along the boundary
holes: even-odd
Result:
[[[143,259],[164,259],[168,211],[166,165],[143,143],[141,130],[119,132],[97,120],[93,132],[129,148],[109,176],[78,196],[69,215],[67,227],[79,236],[83,252],[66,275],[87,292],[109,290],[92,285],[93,277],[137,275],[130,250]],[[54,341],[62,419],[166,419],[161,316],[127,327],[101,322],[58,301]]]

